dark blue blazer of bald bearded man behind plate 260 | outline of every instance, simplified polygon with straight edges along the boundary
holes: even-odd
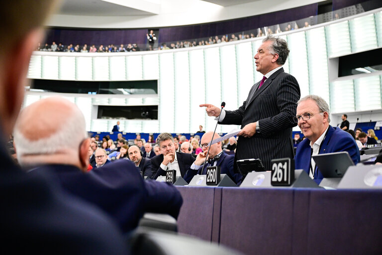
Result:
[[[216,166],[220,166],[220,173],[227,174],[236,184],[238,184],[241,182],[242,175],[233,171],[234,158],[234,155],[228,155],[223,151],[220,155],[220,159],[216,163]],[[204,167],[202,174],[206,174],[207,166],[209,166],[208,163],[206,164],[206,167]],[[201,167],[203,167],[203,165],[201,165]],[[193,176],[195,176],[199,170],[190,168],[185,175],[185,181],[190,183]]]

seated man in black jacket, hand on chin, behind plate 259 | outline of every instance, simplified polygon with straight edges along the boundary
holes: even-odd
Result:
[[[176,170],[177,176],[184,177],[195,158],[191,154],[175,151],[174,138],[171,133],[159,134],[157,143],[161,154],[151,158],[151,172],[154,180],[158,176],[165,176],[166,170]]]

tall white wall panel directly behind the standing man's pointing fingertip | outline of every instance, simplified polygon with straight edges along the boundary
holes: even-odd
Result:
[[[200,104],[209,103],[205,95],[204,52],[202,49],[190,51],[190,128],[191,132],[198,130],[199,125],[205,127],[206,114]],[[208,117],[207,117],[208,118]],[[194,128],[196,130],[194,130]]]

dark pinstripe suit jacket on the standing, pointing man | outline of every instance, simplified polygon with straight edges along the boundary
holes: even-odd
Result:
[[[252,86],[248,98],[236,111],[225,111],[221,124],[241,125],[259,121],[260,133],[252,137],[240,136],[235,162],[239,159],[260,158],[267,170],[271,159],[293,158],[292,127],[296,115],[300,87],[297,80],[281,68],[272,74],[258,89],[260,82]],[[253,96],[252,96],[253,95]],[[251,97],[252,96],[252,97]],[[236,163],[234,164],[236,168]]]

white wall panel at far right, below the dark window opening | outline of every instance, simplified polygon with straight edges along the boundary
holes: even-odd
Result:
[[[356,111],[381,109],[380,76],[363,77],[354,80]]]

